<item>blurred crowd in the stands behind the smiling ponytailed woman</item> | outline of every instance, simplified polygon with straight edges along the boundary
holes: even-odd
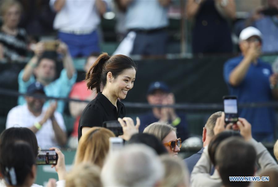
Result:
[[[239,116],[252,124],[252,137],[273,155],[278,0],[0,3],[1,132],[34,124],[38,145],[65,150],[66,164],[72,163],[80,115],[96,97],[83,81],[85,73],[107,52],[138,63],[134,88],[122,101],[126,116],[139,116],[139,132],[157,121],[175,127],[182,159],[205,147],[204,132],[214,126],[203,128],[223,111],[222,96],[229,94],[237,95]],[[192,171],[195,164],[187,164]],[[50,167],[38,171],[37,183],[45,182],[43,173],[54,175]]]

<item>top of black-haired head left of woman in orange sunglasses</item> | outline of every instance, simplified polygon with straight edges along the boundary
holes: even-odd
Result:
[[[154,135],[147,133],[138,133],[134,134],[129,141],[126,141],[128,144],[145,144],[150,146],[156,151],[158,155],[167,154],[166,148],[163,146],[161,141],[159,141]]]

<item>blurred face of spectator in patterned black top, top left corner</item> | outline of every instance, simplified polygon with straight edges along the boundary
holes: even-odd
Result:
[[[3,15],[3,22],[8,28],[17,28],[20,21],[20,7],[12,5]]]

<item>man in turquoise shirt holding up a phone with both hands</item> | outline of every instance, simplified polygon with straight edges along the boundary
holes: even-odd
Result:
[[[54,80],[56,75],[56,58],[50,55],[49,51],[46,51],[49,47],[62,55],[64,69],[56,80]],[[36,44],[34,51],[35,55],[18,75],[19,92],[26,93],[27,87],[30,84],[39,81],[45,86],[44,89],[47,96],[67,97],[72,85],[75,83],[77,73],[66,44],[56,41],[39,42]],[[24,97],[20,96],[18,104],[22,105],[24,103]],[[46,106],[48,105],[49,102],[46,102]],[[64,105],[63,101],[58,101],[57,111],[63,113]]]

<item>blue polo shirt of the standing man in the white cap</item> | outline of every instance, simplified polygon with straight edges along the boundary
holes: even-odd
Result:
[[[224,64],[224,79],[229,87],[230,94],[237,96],[238,103],[269,102],[273,100],[269,82],[272,68],[261,59],[258,59],[256,65],[251,63],[246,76],[238,86],[230,85],[230,74],[242,59],[243,56],[235,57]],[[274,132],[276,119],[273,108],[242,108],[238,111],[238,114],[250,122],[252,133]]]

